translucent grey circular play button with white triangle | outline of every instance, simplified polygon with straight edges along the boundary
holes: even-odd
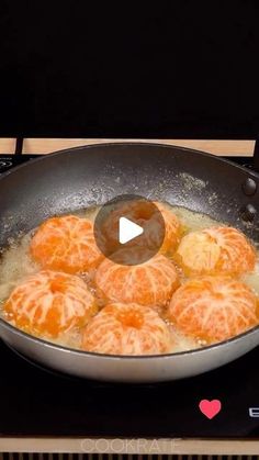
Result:
[[[100,209],[94,220],[99,249],[120,265],[149,260],[162,246],[165,232],[158,204],[138,195],[116,197]]]

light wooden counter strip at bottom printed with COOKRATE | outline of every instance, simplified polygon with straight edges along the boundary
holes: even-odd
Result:
[[[203,439],[0,438],[0,452],[258,456],[259,441]],[[101,459],[101,457],[100,457]],[[153,459],[159,460],[159,459]],[[191,460],[191,458],[190,458]],[[228,459],[230,460],[230,459]]]

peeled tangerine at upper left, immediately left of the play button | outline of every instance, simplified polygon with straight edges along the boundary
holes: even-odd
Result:
[[[67,273],[88,271],[102,259],[92,222],[75,215],[44,222],[32,238],[31,254],[44,269]]]

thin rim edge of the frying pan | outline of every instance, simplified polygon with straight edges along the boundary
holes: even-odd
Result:
[[[23,165],[19,165],[14,168],[12,168],[11,170],[8,170],[7,172],[3,172],[0,177],[0,182],[1,180],[3,180],[5,177],[8,177],[11,173],[14,173],[15,171],[25,168],[27,165],[34,164],[34,162],[38,162],[38,161],[44,161],[46,158],[53,158],[56,156],[61,156],[63,154],[66,153],[71,153],[71,152],[80,152],[83,149],[91,149],[91,148],[98,148],[98,147],[112,147],[112,146],[120,146],[120,147],[125,147],[125,146],[136,146],[136,147],[159,147],[159,148],[174,148],[178,150],[182,150],[182,152],[192,152],[195,153],[202,157],[210,157],[215,159],[216,161],[221,161],[224,164],[227,164],[232,167],[238,168],[239,170],[244,171],[247,173],[248,177],[254,176],[256,178],[259,178],[259,173],[256,171],[250,171],[248,170],[246,167],[241,166],[241,165],[237,165],[232,160],[225,159],[223,157],[203,152],[203,150],[196,150],[194,148],[188,148],[188,147],[182,147],[182,146],[177,146],[177,145],[171,145],[171,144],[160,144],[160,143],[151,143],[151,142],[108,142],[108,143],[97,143],[97,144],[91,144],[91,145],[85,145],[85,146],[78,146],[78,147],[70,147],[70,148],[66,148],[66,149],[61,149],[61,150],[57,150],[50,154],[46,154],[46,155],[38,155],[38,158],[33,158],[31,159],[29,162],[24,162]],[[27,154],[24,154],[27,155]],[[251,335],[254,333],[256,333],[257,329],[259,329],[259,325],[244,332],[243,334],[239,334],[235,337],[230,337],[227,340],[223,340],[216,344],[212,344],[212,345],[207,345],[205,347],[202,348],[196,348],[196,349],[191,349],[191,350],[185,350],[185,351],[177,351],[177,352],[171,352],[171,354],[164,354],[164,355],[142,355],[142,356],[132,356],[132,355],[106,355],[106,354],[98,354],[98,352],[93,352],[93,351],[85,351],[85,350],[80,350],[80,349],[76,349],[76,348],[69,348],[69,347],[65,347],[63,345],[58,345],[48,340],[45,340],[41,337],[36,337],[33,335],[30,335],[25,332],[23,332],[22,329],[19,329],[18,327],[11,325],[10,323],[8,323],[7,321],[4,321],[2,317],[0,317],[0,324],[3,325],[3,327],[10,329],[11,332],[13,332],[14,334],[21,336],[21,337],[25,337],[26,339],[29,339],[30,341],[36,341],[40,345],[44,345],[47,348],[54,348],[57,350],[63,350],[65,352],[70,352],[74,355],[79,355],[79,356],[90,356],[90,357],[95,357],[95,358],[110,358],[113,360],[143,360],[143,359],[169,359],[172,357],[182,357],[182,356],[192,356],[192,355],[200,355],[203,354],[207,350],[211,349],[216,349],[216,348],[222,348],[223,346],[227,345],[227,344],[232,344],[235,341],[239,341],[240,339],[243,339],[245,336]],[[4,340],[3,340],[4,341]]]

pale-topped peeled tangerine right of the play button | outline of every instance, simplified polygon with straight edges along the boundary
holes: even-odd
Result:
[[[185,235],[176,261],[188,276],[252,271],[256,250],[245,235],[232,227],[211,227]]]

